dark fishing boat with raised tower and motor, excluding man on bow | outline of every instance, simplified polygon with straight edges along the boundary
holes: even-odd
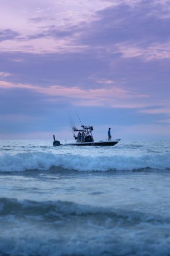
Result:
[[[81,124],[81,128],[77,129],[75,126],[72,126],[72,134],[75,138],[75,143],[65,143],[63,146],[114,146],[120,139],[113,139],[110,141],[94,141],[93,138],[93,126],[86,126]],[[61,146],[60,141],[56,141],[55,135],[53,146]]]

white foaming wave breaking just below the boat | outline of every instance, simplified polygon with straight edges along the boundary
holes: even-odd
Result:
[[[170,153],[139,156],[82,156],[48,152],[27,152],[0,156],[0,171],[49,170],[52,166],[77,171],[140,170],[170,168]]]

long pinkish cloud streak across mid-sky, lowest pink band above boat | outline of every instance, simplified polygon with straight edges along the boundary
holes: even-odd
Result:
[[[148,99],[148,95],[138,94],[132,90],[125,90],[119,86],[103,87],[100,89],[81,89],[79,87],[64,86],[34,86],[23,83],[12,83],[0,81],[0,88],[4,89],[27,89],[47,96],[47,101],[57,101],[58,97],[67,98],[67,101],[74,106],[108,106],[111,108],[141,108],[150,105],[143,103],[143,98]],[[49,98],[50,96],[51,98]]]

